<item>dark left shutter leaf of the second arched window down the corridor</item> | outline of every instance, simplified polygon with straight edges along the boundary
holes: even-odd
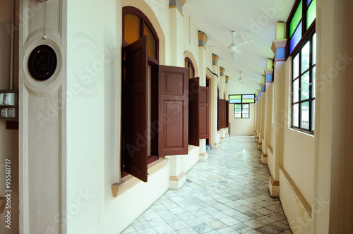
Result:
[[[198,93],[200,78],[189,79],[189,144],[199,146]]]

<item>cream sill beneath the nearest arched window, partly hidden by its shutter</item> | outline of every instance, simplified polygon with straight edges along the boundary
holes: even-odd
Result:
[[[158,159],[155,162],[152,162],[152,164],[148,165],[148,177],[152,176],[154,173],[157,171],[160,171],[160,169],[164,168],[164,166],[167,166],[167,162],[169,159]],[[121,178],[120,183],[114,183],[112,184],[112,193],[113,197],[118,197],[119,195],[123,194],[127,190],[131,189],[131,187],[137,185],[138,183],[142,182],[138,178],[128,175],[125,176],[124,178]]]

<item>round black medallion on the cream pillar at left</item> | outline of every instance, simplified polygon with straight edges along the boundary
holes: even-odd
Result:
[[[28,69],[35,80],[48,80],[54,74],[56,66],[57,56],[52,47],[42,44],[30,53]]]

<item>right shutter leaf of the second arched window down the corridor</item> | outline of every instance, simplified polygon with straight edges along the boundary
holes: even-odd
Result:
[[[198,115],[199,115],[199,135],[200,139],[207,139],[210,137],[210,88],[199,87],[198,92]]]

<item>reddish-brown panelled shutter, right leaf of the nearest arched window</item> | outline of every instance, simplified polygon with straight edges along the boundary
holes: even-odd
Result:
[[[159,156],[188,154],[189,68],[159,68]]]

